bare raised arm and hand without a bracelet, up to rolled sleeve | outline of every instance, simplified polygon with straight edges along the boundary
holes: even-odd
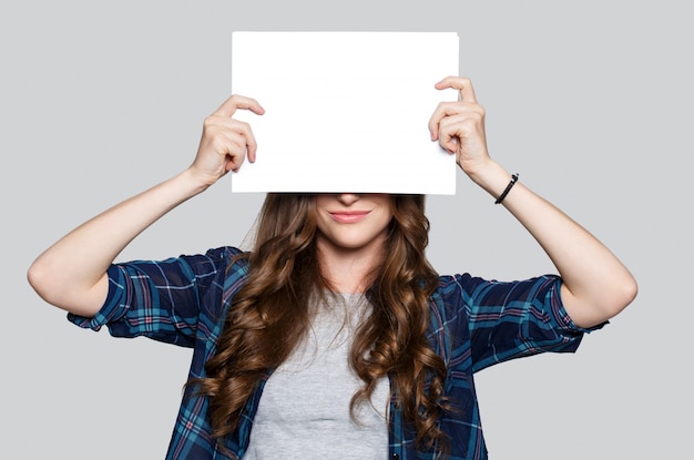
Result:
[[[34,290],[49,304],[81,316],[99,311],[108,294],[106,269],[133,238],[229,171],[237,171],[246,155],[255,161],[251,126],[232,119],[238,109],[264,113],[253,99],[227,99],[205,119],[197,154],[186,170],[99,214],[49,247],[29,268]]]

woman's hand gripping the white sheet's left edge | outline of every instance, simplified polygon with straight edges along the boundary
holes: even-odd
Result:
[[[207,186],[229,171],[238,171],[246,156],[251,163],[255,161],[257,143],[251,125],[232,117],[238,109],[257,115],[265,113],[256,100],[234,94],[203,123],[202,139],[190,170]]]

